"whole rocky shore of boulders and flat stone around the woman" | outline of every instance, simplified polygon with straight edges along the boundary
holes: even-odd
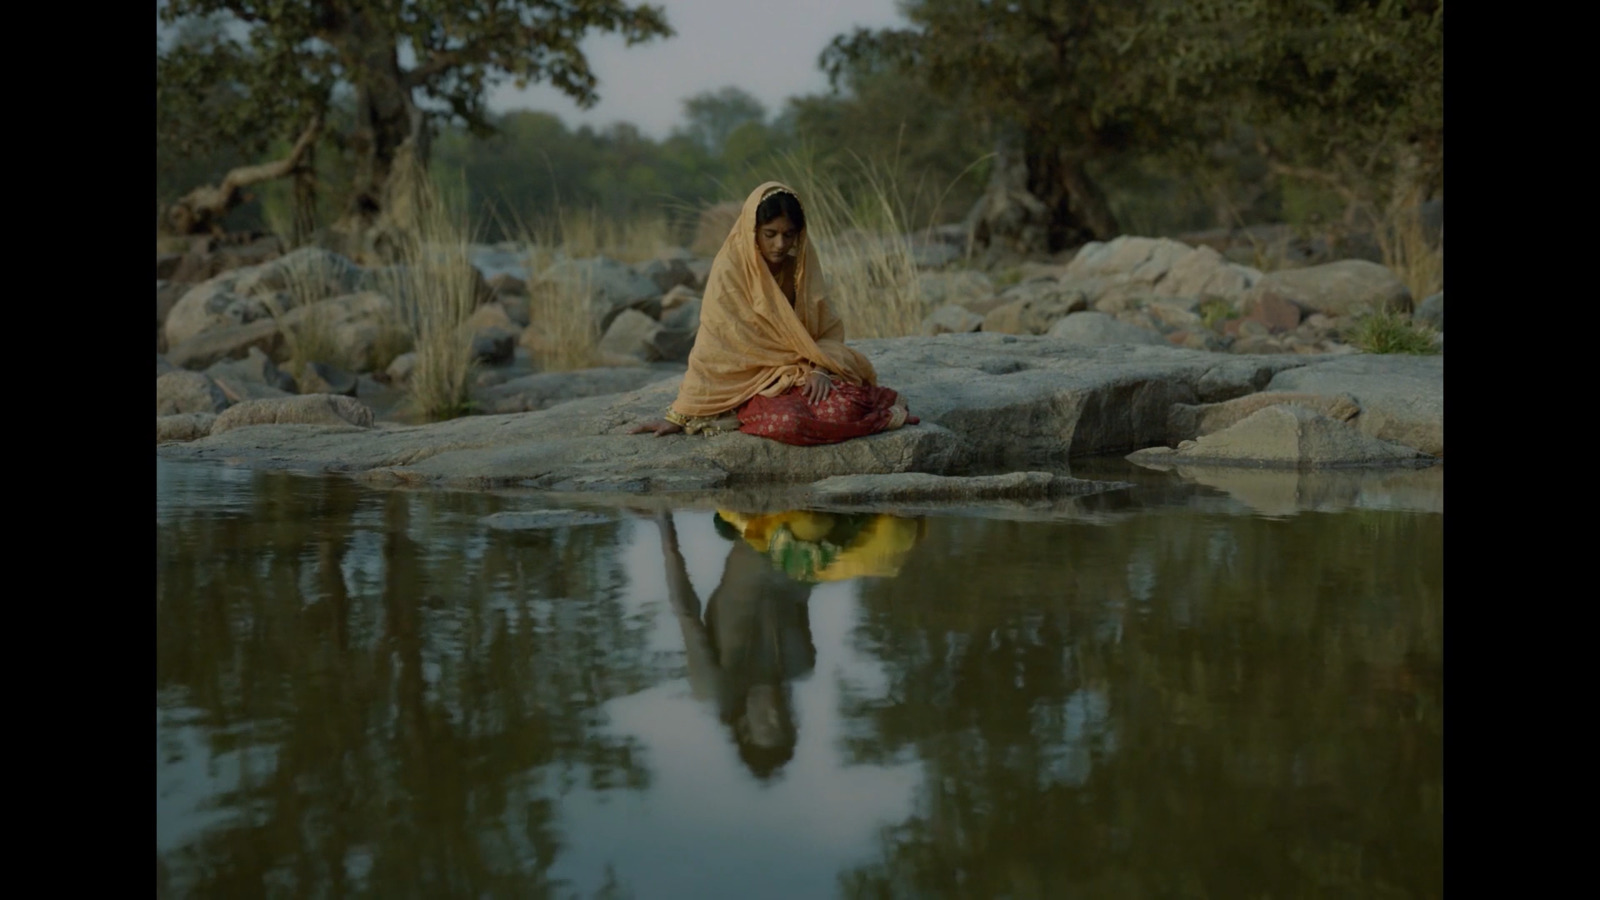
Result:
[[[925,272],[923,336],[851,341],[906,396],[918,426],[810,448],[744,434],[627,434],[677,391],[702,263],[568,266],[600,285],[602,348],[619,364],[579,372],[536,370],[526,296],[538,287],[506,274],[485,280],[474,315],[480,415],[435,424],[392,415],[405,357],[365,372],[307,365],[298,380],[280,367],[283,309],[304,317],[312,306],[296,309],[286,290],[306,271],[333,282],[314,306],[352,349],[346,359],[378,359],[392,304],[379,274],[301,250],[181,291],[158,279],[157,348],[166,352],[157,354],[157,453],[376,484],[629,495],[838,476],[939,479],[914,479],[925,498],[1061,493],[1067,482],[1048,472],[1107,455],[1186,469],[1443,460],[1443,354],[1362,354],[1334,338],[1341,319],[1363,311],[1413,312],[1382,266],[1261,274],[1165,239],[1088,245],[1003,290],[981,272]],[[563,277],[560,266],[546,277]],[[1422,306],[1442,327],[1442,295]],[[992,476],[1005,472],[1037,477],[1000,488]],[[901,482],[851,482],[850,496],[909,490]]]

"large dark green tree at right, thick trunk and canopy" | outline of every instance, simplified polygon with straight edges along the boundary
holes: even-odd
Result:
[[[1134,152],[1194,160],[1238,125],[1285,175],[1437,181],[1440,0],[909,0],[904,13],[912,27],[840,35],[821,64],[835,82],[915,74],[994,123],[979,240],[1104,240],[1118,223],[1096,168]]]

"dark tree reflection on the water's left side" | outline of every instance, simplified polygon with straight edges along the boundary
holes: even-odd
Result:
[[[262,477],[250,514],[157,527],[158,708],[186,708],[237,818],[158,892],[541,895],[576,778],[640,786],[595,709],[653,681],[618,525],[488,535],[482,496]],[[178,882],[186,887],[178,890]]]

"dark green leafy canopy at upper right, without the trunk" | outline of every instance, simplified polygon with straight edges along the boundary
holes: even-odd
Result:
[[[910,27],[840,35],[824,69],[835,83],[902,72],[968,127],[1018,135],[1027,187],[1058,216],[1094,199],[1078,173],[1118,189],[1107,213],[1141,231],[1200,224],[1166,221],[1162,195],[1243,224],[1275,207],[1267,178],[1318,183],[1352,223],[1442,189],[1440,2],[902,8]]]

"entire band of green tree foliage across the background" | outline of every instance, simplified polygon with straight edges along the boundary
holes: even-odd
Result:
[[[830,93],[770,115],[739,86],[706,91],[683,101],[683,125],[664,139],[630,125],[570,130],[549,114],[486,114],[485,90],[502,78],[549,80],[590,102],[584,29],[667,34],[659,11],[619,0],[555,3],[554,24],[534,34],[534,6],[544,5],[168,0],[158,18],[176,34],[157,53],[157,208],[229,168],[282,157],[315,112],[326,120],[309,176],[317,221],[349,208],[357,173],[371,168],[350,141],[352,88],[365,75],[346,62],[358,46],[341,30],[360,16],[418,61],[395,72],[440,110],[430,170],[466,186],[491,240],[515,237],[517,221],[558,231],[563,210],[582,210],[611,221],[667,215],[686,242],[699,208],[741,199],[781,155],[837,184],[858,216],[875,203],[853,175],[866,163],[894,173],[912,227],[958,221],[1011,133],[1040,179],[1054,179],[1056,197],[1040,194],[1046,205],[1070,207],[1061,184],[1082,171],[1109,218],[1136,234],[1288,221],[1333,237],[1402,221],[1397,203],[1443,186],[1443,6],[1432,0],[912,0],[910,27],[829,46]],[[230,226],[286,232],[294,189],[253,191]]]

